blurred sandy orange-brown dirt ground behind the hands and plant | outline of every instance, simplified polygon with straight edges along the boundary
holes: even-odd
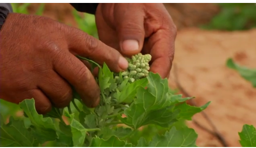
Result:
[[[230,147],[240,147],[238,132],[243,124],[256,126],[256,89],[225,66],[227,58],[247,67],[256,68],[256,29],[242,32],[203,31],[192,28],[208,22],[217,12],[213,4],[165,4],[178,28],[174,63],[183,88],[197,104],[212,101],[205,110]],[[33,4],[30,11],[35,11]],[[44,16],[75,25],[69,4],[46,4]],[[175,87],[174,69],[170,86]],[[210,128],[202,115],[194,119]],[[192,122],[198,133],[200,147],[220,147],[219,142]]]

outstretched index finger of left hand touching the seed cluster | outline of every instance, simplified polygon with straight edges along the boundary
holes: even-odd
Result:
[[[68,48],[72,54],[89,57],[101,65],[105,62],[114,72],[128,68],[128,61],[117,50],[100,40],[73,27],[70,27],[65,34]]]

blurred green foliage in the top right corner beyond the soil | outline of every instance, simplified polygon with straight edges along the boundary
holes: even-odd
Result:
[[[211,30],[247,30],[256,27],[256,3],[218,3],[220,12],[207,25]]]

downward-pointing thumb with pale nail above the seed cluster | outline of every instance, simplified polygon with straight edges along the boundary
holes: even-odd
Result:
[[[145,38],[145,13],[144,9],[138,7],[139,5],[134,3],[121,3],[115,8],[120,9],[117,10],[118,12],[122,12],[114,14],[121,51],[129,56],[141,52]]]

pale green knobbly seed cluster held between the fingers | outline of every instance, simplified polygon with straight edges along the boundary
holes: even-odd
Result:
[[[128,69],[122,73],[124,78],[129,78],[130,82],[134,82],[149,74],[149,61],[151,55],[142,55],[141,53],[127,58],[129,66]]]

